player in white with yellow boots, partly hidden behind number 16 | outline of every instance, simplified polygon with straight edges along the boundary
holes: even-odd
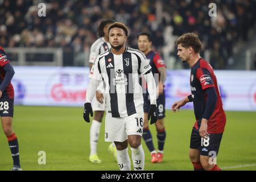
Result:
[[[98,38],[90,47],[90,56],[89,56],[89,67],[92,69],[92,65],[96,60],[96,57],[101,53],[106,52],[110,48],[109,44],[109,34],[108,28],[110,24],[114,23],[113,19],[105,19],[102,20],[100,25],[98,26]],[[92,101],[92,107],[94,111],[94,117],[92,125],[90,126],[90,155],[89,161],[92,163],[101,163],[100,158],[97,155],[97,144],[98,138],[100,136],[101,129],[101,121],[105,111],[105,97],[104,97],[104,86],[101,81],[97,87],[95,97]],[[116,148],[114,142],[109,145],[108,150],[115,156],[116,158]]]

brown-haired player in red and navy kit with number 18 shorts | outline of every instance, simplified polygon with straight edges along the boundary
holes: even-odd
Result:
[[[177,39],[177,55],[191,67],[191,95],[172,105],[176,112],[193,102],[196,123],[192,129],[189,158],[195,171],[220,171],[216,159],[226,124],[217,78],[210,64],[200,57],[201,42],[196,34]],[[210,158],[212,157],[212,158]]]

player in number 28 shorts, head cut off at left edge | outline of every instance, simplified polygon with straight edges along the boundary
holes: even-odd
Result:
[[[0,115],[3,131],[7,137],[11,156],[13,156],[13,171],[21,171],[19,162],[19,144],[13,130],[14,89],[11,79],[14,69],[8,60],[5,51],[0,46]]]

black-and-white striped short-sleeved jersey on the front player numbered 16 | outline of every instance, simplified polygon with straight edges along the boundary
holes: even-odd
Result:
[[[129,47],[121,55],[111,50],[95,60],[90,78],[104,82],[106,111],[112,117],[127,117],[143,112],[142,88],[139,76],[151,70],[146,56]]]

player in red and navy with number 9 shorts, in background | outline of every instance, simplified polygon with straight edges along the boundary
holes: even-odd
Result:
[[[165,104],[166,104],[166,96],[164,93],[164,81],[166,80],[166,64],[164,64],[164,60],[159,55],[158,52],[152,51],[152,40],[151,35],[148,32],[141,32],[137,36],[138,39],[138,48],[145,55],[147,60],[149,61],[152,73],[155,76],[155,82],[157,86],[157,90],[159,92],[159,96],[156,100],[156,104],[158,106],[158,122],[155,123],[157,130],[157,138],[158,138],[158,151],[156,152],[152,135],[148,127],[147,115],[148,115],[148,107],[150,106],[150,100],[148,100],[148,92],[143,94],[144,97],[144,128],[143,128],[143,139],[147,145],[147,148],[150,150],[151,154],[151,163],[162,162],[163,159],[163,148],[164,142],[166,139],[166,130],[164,129],[164,117],[165,117]]]

